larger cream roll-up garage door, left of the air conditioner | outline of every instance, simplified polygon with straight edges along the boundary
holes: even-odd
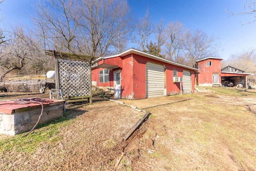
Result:
[[[164,96],[164,66],[146,63],[146,98]]]

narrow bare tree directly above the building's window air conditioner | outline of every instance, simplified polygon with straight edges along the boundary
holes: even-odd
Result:
[[[180,62],[180,52],[184,46],[184,26],[180,22],[169,22],[164,29],[164,52],[174,62]],[[183,59],[182,59],[183,60]]]

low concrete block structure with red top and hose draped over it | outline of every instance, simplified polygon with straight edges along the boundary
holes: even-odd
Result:
[[[38,124],[63,116],[64,100],[46,100]],[[0,101],[0,134],[16,135],[30,131],[38,121],[42,111],[39,103],[20,104],[16,101]]]

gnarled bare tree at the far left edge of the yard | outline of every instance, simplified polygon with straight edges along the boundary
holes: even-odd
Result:
[[[6,74],[21,70],[26,60],[39,51],[38,42],[33,40],[31,34],[26,34],[22,27],[12,30],[9,37],[10,40],[2,47],[0,55],[0,82]]]

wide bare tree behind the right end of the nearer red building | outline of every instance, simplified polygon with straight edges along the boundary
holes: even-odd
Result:
[[[187,31],[184,38],[184,57],[188,64],[196,67],[196,61],[207,57],[216,57],[218,51],[217,38],[208,36],[202,30]]]

